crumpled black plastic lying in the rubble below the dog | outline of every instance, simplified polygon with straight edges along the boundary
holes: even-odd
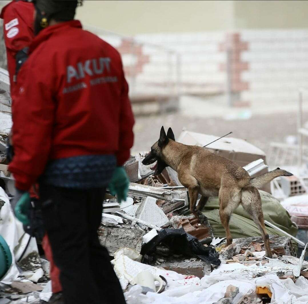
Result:
[[[158,249],[157,249],[158,248]],[[183,254],[188,257],[198,257],[202,261],[213,265],[220,265],[219,253],[212,247],[202,245],[197,237],[194,237],[180,229],[163,229],[150,242],[144,244],[141,248],[143,256],[152,254],[161,254],[164,248],[164,254]]]

